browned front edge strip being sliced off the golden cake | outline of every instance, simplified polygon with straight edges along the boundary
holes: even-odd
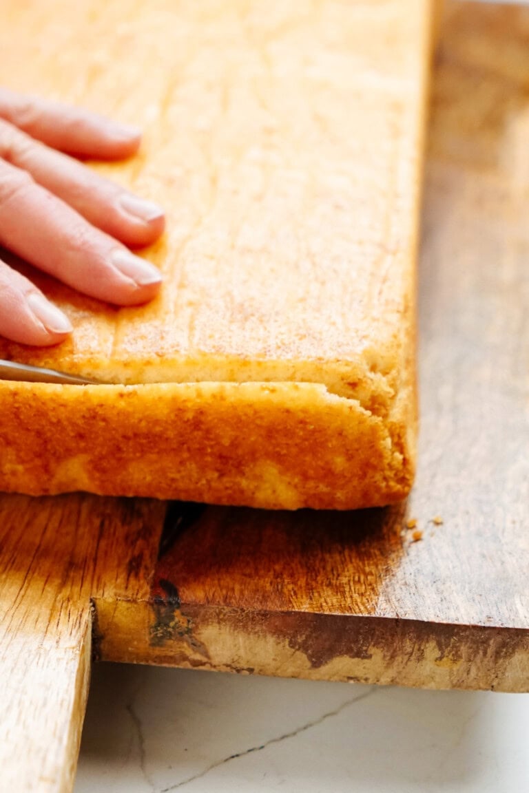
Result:
[[[412,485],[412,392],[390,421],[321,385],[0,384],[0,488],[352,509]]]

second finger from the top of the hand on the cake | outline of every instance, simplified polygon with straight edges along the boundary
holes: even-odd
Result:
[[[2,120],[0,158],[29,171],[36,182],[126,245],[149,245],[163,232],[163,210],[159,206],[128,193]]]

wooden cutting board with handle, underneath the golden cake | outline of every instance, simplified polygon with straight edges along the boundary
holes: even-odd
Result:
[[[90,657],[529,690],[528,141],[529,10],[450,5],[408,504],[276,514],[0,497],[6,790],[71,790]]]

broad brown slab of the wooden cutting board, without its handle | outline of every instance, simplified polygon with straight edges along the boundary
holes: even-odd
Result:
[[[529,689],[528,80],[527,10],[448,6],[408,504],[208,508],[161,557],[150,602],[98,604],[102,657]]]

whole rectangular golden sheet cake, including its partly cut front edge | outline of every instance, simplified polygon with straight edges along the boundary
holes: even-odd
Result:
[[[0,358],[0,489],[359,508],[416,456],[425,0],[7,3],[0,74],[145,129],[97,164],[167,209],[156,301],[41,274],[70,341]]]

